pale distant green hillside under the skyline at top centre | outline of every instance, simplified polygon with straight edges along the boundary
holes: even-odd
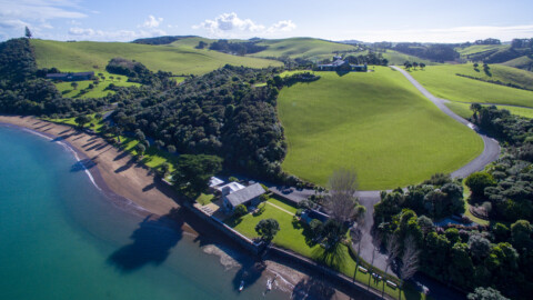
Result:
[[[358,47],[312,38],[292,38],[282,40],[264,40],[259,46],[268,46],[266,50],[250,54],[258,58],[290,57],[306,59],[324,59],[334,56],[334,51],[356,51]]]

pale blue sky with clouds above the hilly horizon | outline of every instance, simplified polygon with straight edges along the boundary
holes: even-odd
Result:
[[[0,40],[215,39],[465,42],[533,38],[532,0],[0,0]]]

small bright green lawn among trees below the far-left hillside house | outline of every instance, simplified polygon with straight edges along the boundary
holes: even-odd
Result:
[[[83,80],[83,81],[76,81],[78,83],[78,87],[76,89],[71,86],[72,82],[59,82],[59,83],[54,83],[54,86],[58,89],[58,91],[66,98],[102,98],[108,96],[108,93],[114,93],[114,91],[107,90],[107,88],[111,83],[113,83],[117,87],[132,87],[132,86],[140,87],[141,86],[135,82],[128,82],[128,78],[125,76],[117,76],[108,72],[95,72],[95,76],[98,76],[98,73],[102,73],[105,77],[105,80],[100,79],[99,84],[94,84],[92,80]],[[113,79],[110,79],[110,77],[113,77]],[[120,80],[118,78],[120,78]],[[88,89],[89,84],[93,84],[94,88]],[[86,89],[88,92],[86,93],[81,92],[82,90],[86,90]]]

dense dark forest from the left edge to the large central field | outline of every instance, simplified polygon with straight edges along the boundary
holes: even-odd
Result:
[[[114,94],[100,99],[69,99],[37,77],[47,70],[37,69],[28,39],[2,42],[0,63],[2,112],[70,118],[115,103],[113,132],[141,132],[158,148],[217,154],[230,169],[270,180],[284,178],[280,164],[286,146],[274,109],[285,83],[275,76],[282,69],[225,66],[175,84],[169,72],[152,72],[140,62],[114,58],[108,71],[144,84],[110,87]]]

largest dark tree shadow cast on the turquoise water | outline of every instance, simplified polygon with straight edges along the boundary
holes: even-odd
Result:
[[[108,263],[121,272],[132,272],[149,263],[159,266],[164,262],[170,249],[183,238],[181,213],[181,209],[172,209],[158,219],[144,218],[130,237],[133,242],[114,251]]]

